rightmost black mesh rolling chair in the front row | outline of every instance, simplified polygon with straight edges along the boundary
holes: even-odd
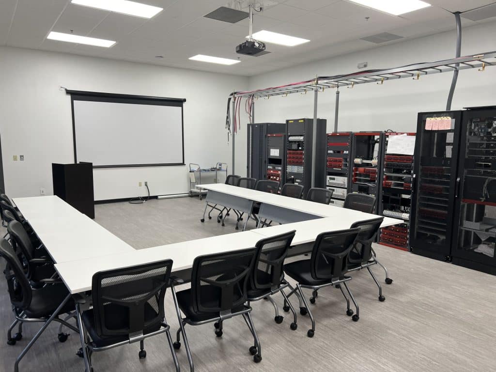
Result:
[[[370,267],[372,265],[379,265],[386,272],[386,283],[391,284],[392,279],[389,278],[389,274],[384,265],[382,265],[375,256],[375,252],[372,248],[372,243],[375,242],[377,233],[379,232],[380,225],[384,217],[374,218],[372,220],[358,221],[351,225],[352,228],[360,228],[360,234],[357,237],[355,245],[348,256],[348,271],[356,271],[367,268],[372,276],[375,284],[379,288],[379,301],[384,301],[385,297],[382,296],[382,288],[375,278]]]

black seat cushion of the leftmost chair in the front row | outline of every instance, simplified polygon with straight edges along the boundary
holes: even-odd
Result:
[[[128,328],[129,317],[127,311],[123,311],[123,308],[114,304],[105,305],[105,319],[107,321],[106,326],[109,329],[121,329]],[[157,312],[146,303],[145,304],[145,322],[151,321],[157,316]],[[128,335],[117,335],[117,336],[100,336],[97,333],[95,326],[95,316],[93,309],[86,310],[82,314],[82,320],[84,327],[88,331],[93,345],[96,347],[104,347],[108,345],[113,345],[118,342],[127,341],[129,339]],[[163,320],[163,319],[162,319]],[[143,334],[148,334],[160,329],[160,324],[162,320],[154,322],[150,326],[143,329]]]

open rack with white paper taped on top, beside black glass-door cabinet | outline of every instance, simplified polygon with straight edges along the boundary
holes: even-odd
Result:
[[[410,208],[413,180],[413,152],[408,146],[391,146],[389,139],[408,136],[415,140],[415,133],[385,132],[384,156],[381,158],[382,192],[378,198],[378,214],[398,218],[402,224],[382,228],[379,243],[391,248],[409,250]],[[399,139],[396,137],[396,139]]]

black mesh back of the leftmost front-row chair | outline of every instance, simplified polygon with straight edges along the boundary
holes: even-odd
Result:
[[[93,313],[99,336],[133,336],[160,325],[172,260],[93,275]],[[116,321],[121,319],[121,321]]]

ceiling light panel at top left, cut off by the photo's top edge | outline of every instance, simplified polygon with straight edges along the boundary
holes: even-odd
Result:
[[[76,5],[89,6],[148,19],[164,10],[164,8],[158,6],[128,0],[71,0],[71,2]]]

